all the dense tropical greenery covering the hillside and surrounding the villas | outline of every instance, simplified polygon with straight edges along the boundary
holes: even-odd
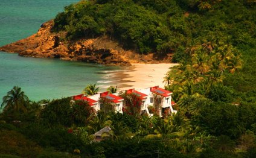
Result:
[[[179,65],[164,81],[178,113],[139,115],[141,101],[122,93],[123,114],[102,100],[106,109],[96,115],[86,102],[35,103],[13,87],[2,103],[0,157],[255,157],[255,11],[250,0],[97,0],[65,7],[53,31],[67,31],[69,39],[109,36],[141,53],[173,52]],[[84,91],[98,89],[91,84]],[[92,134],[106,126],[111,131],[94,142]]]

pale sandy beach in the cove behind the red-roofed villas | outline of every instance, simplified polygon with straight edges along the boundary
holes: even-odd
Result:
[[[170,67],[175,63],[142,64],[135,63],[124,69],[124,71],[112,72],[114,78],[113,85],[117,85],[119,90],[144,89],[152,86],[164,87],[164,77]]]

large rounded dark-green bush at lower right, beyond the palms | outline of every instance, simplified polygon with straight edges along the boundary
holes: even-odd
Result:
[[[202,107],[198,115],[192,116],[191,122],[214,136],[225,134],[235,139],[245,131],[238,110],[237,106],[231,104],[212,103]]]

